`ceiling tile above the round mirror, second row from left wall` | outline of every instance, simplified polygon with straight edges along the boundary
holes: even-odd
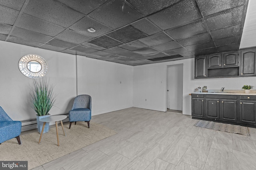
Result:
[[[19,27],[15,27],[14,30],[12,31],[11,35],[13,37],[19,37],[22,39],[28,39],[28,40],[36,41],[36,42],[40,42],[40,43],[46,43],[47,41],[52,39],[52,37],[50,37],[50,36],[36,33],[33,31],[29,31],[27,29],[22,29]]]

